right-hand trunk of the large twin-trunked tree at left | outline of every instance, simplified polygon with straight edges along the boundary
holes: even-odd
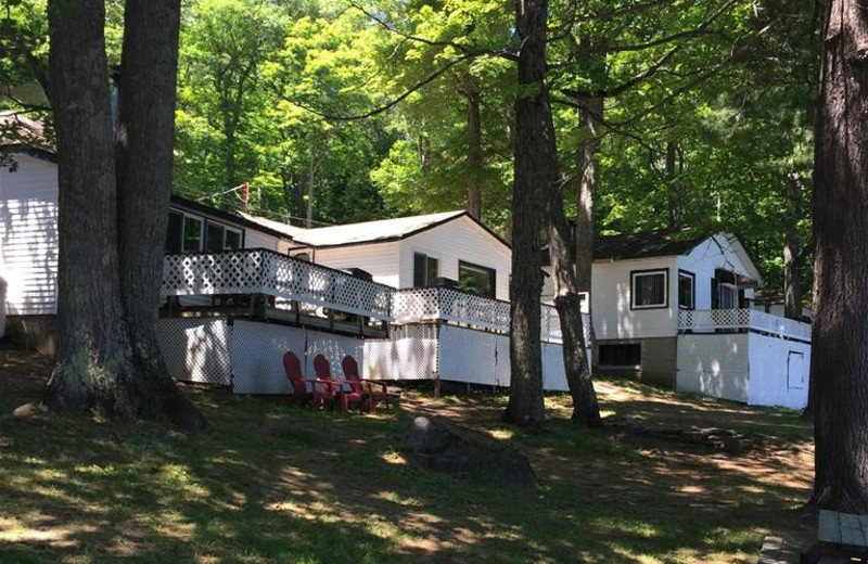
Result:
[[[119,89],[117,178],[120,290],[142,416],[204,420],[168,374],[156,336],[163,241],[171,194],[180,0],[127,0]]]

